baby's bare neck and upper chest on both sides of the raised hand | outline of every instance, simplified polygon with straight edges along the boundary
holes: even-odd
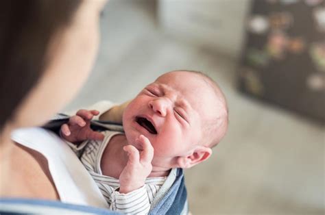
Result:
[[[103,175],[119,179],[119,175],[128,163],[128,154],[123,147],[128,145],[124,135],[115,135],[108,142],[101,157],[101,170]],[[148,177],[164,177],[169,175],[171,168],[152,166],[152,172]]]

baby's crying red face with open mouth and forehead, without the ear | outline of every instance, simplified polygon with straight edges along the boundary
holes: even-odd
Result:
[[[123,114],[128,142],[146,136],[154,157],[171,160],[186,156],[200,144],[204,121],[215,116],[214,97],[202,77],[189,72],[171,72],[146,86]]]

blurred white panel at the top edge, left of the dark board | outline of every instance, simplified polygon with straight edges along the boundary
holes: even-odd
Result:
[[[159,0],[167,34],[238,58],[250,0]]]

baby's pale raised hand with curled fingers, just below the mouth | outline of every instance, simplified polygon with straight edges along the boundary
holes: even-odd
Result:
[[[120,193],[128,193],[141,188],[145,184],[145,179],[152,172],[154,148],[151,142],[143,135],[139,136],[136,142],[142,145],[143,151],[139,152],[130,144],[123,148],[128,153],[129,160],[119,176]]]

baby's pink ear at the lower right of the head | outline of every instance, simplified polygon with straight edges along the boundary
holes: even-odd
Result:
[[[191,155],[178,157],[178,166],[180,168],[191,168],[196,164],[204,162],[212,154],[210,147],[197,146],[197,148],[191,153]]]

